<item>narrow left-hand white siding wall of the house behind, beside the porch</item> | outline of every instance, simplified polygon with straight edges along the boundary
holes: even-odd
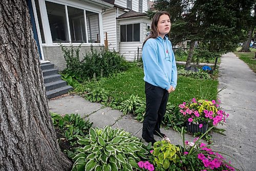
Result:
[[[108,45],[109,48],[112,50],[113,48],[117,51],[117,24],[116,24],[116,10],[111,9],[108,12],[103,13],[102,15],[102,22],[103,22],[103,34],[104,40],[105,32],[108,33]]]

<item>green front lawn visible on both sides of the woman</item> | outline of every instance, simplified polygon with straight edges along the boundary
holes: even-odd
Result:
[[[145,98],[143,77],[143,68],[133,66],[122,74],[102,79],[98,83],[100,87],[109,90],[110,95],[115,98],[122,97],[126,100],[131,94]],[[217,87],[217,80],[199,80],[179,76],[176,91],[170,93],[169,102],[180,104],[193,97],[216,99]]]

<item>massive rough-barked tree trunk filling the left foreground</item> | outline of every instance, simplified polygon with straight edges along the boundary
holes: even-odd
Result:
[[[0,1],[0,170],[70,170],[48,110],[26,1]]]

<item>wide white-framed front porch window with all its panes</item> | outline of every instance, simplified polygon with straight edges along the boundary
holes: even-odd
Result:
[[[99,13],[49,1],[45,3],[53,43],[100,43]]]

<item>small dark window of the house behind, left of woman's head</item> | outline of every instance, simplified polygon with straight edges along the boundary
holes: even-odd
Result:
[[[120,26],[120,41],[140,41],[140,23]]]

